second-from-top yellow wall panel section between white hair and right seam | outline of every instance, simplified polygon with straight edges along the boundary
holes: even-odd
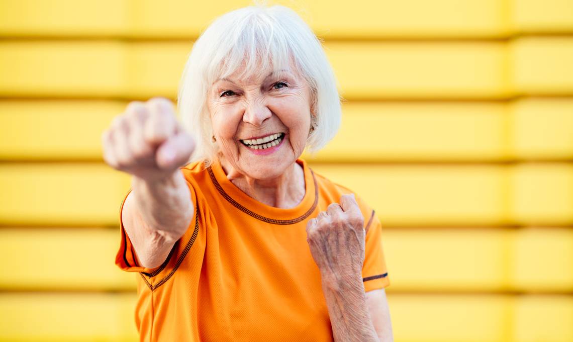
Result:
[[[503,42],[332,42],[325,48],[344,98],[510,95]]]

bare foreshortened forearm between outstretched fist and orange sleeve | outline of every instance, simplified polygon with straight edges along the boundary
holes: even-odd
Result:
[[[189,186],[179,169],[163,180],[146,181],[134,176],[131,186],[136,212],[149,229],[173,239],[185,233],[194,208]]]

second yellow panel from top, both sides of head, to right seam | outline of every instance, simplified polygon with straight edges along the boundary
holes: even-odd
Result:
[[[507,98],[502,42],[325,45],[347,99]],[[175,98],[189,42],[3,41],[0,95]]]

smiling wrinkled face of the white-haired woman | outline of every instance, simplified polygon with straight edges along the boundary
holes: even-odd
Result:
[[[255,179],[280,176],[303,153],[311,125],[311,90],[294,71],[261,70],[219,79],[208,107],[221,152]]]

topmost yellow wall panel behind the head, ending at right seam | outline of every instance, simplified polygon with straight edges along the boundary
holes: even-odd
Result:
[[[336,6],[325,0],[274,3],[296,10],[316,34],[328,39],[473,38],[500,37],[509,33],[504,4],[495,0],[414,0],[407,3],[360,0],[340,2]],[[0,34],[194,38],[218,15],[251,4],[252,1],[247,0],[217,3],[5,0],[0,4]],[[456,15],[451,15],[452,12]],[[344,20],[340,20],[342,17]]]

